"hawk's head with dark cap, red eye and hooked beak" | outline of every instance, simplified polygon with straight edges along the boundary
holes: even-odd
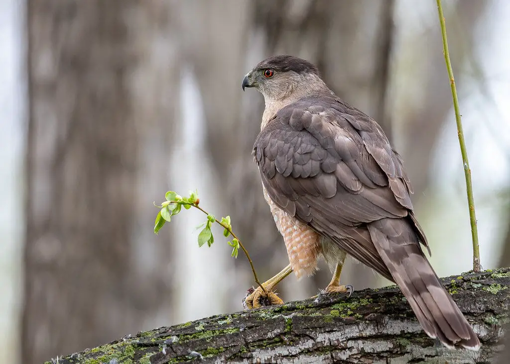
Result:
[[[281,100],[298,89],[310,91],[316,85],[324,83],[315,65],[292,55],[275,55],[253,67],[241,86],[243,91],[246,87],[256,88],[266,100]]]

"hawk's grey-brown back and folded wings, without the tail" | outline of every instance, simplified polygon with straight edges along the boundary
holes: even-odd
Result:
[[[392,279],[367,223],[412,215],[412,192],[376,123],[333,97],[303,98],[276,114],[253,154],[279,207]]]

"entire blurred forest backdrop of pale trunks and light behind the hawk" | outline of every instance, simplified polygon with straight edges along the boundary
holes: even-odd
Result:
[[[445,0],[484,268],[510,265],[510,2]],[[187,211],[152,233],[168,189],[232,216],[262,279],[287,263],[251,146],[274,54],[318,64],[405,160],[432,264],[471,268],[463,165],[436,2],[0,2],[0,362],[39,363],[139,330],[241,309],[252,276]],[[279,287],[307,298],[324,266]],[[362,265],[342,279],[386,285]]]

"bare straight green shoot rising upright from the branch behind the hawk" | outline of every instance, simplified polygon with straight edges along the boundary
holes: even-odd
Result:
[[[441,0],[437,0],[439,22],[441,24],[441,34],[443,36],[443,54],[446,62],[446,69],[450,79],[451,96],[453,99],[453,109],[455,110],[455,120],[457,122],[458,143],[461,146],[462,161],[464,163],[464,175],[466,177],[466,192],[468,195],[469,218],[471,221],[471,237],[473,240],[473,271],[479,272],[480,250],[478,247],[478,228],[476,224],[475,203],[473,199],[473,185],[471,183],[471,170],[469,169],[468,152],[466,150],[466,142],[464,141],[464,132],[462,130],[461,112],[458,107],[457,89],[455,87],[455,79],[453,78],[453,70],[451,68],[450,53],[448,52],[448,41],[446,39],[446,23],[441,7]]]

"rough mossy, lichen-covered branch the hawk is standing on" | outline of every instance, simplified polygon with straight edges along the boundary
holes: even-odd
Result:
[[[510,268],[443,282],[478,334],[480,351],[448,350],[435,343],[392,286],[138,332],[59,357],[58,363],[507,362],[501,339],[510,321]]]

